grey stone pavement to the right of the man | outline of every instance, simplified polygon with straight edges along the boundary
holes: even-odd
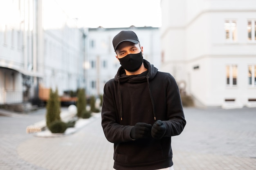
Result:
[[[172,138],[175,170],[256,170],[256,108],[185,108]]]

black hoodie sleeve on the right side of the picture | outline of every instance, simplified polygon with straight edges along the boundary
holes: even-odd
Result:
[[[183,113],[180,91],[174,77],[168,74],[166,79],[166,108],[168,121],[166,125],[166,137],[180,135],[183,131],[186,120]]]

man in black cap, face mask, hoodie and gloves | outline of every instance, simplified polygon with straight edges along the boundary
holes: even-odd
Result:
[[[171,137],[186,124],[175,79],[143,59],[133,31],[118,33],[113,46],[121,66],[104,87],[101,124],[114,169],[172,170]]]

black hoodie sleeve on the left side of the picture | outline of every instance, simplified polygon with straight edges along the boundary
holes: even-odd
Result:
[[[121,143],[131,141],[130,131],[133,126],[124,126],[119,123],[119,114],[115,104],[115,86],[107,82],[104,86],[103,103],[101,110],[101,126],[108,141]]]

